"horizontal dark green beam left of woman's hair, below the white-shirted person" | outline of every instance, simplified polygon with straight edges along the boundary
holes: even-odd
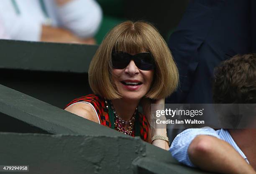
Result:
[[[0,40],[0,69],[88,72],[97,45]]]

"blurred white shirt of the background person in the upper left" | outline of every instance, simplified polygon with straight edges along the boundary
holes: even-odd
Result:
[[[92,37],[102,19],[100,6],[94,0],[73,0],[58,6],[55,0],[43,0],[45,15],[40,0],[0,0],[0,18],[11,39],[39,41],[41,26],[64,27],[75,35]],[[17,10],[18,9],[18,10]]]

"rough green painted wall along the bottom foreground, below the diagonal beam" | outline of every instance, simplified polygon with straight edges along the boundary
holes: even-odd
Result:
[[[206,173],[138,137],[0,133],[0,142],[0,164],[29,165],[30,174]]]

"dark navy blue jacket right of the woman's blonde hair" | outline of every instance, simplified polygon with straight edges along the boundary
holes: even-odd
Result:
[[[213,70],[256,50],[255,0],[191,0],[169,38],[180,85],[166,103],[212,103]]]

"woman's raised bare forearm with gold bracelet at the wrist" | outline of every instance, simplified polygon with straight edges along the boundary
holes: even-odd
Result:
[[[157,104],[154,105],[154,110],[164,110],[164,98],[162,99],[148,99],[148,98],[143,98],[141,100],[141,105],[143,108],[143,112],[146,115],[146,118],[148,119],[149,127],[151,130],[151,137],[154,137],[155,135],[163,135],[167,137],[167,132],[166,132],[166,124],[161,124],[161,128],[156,127],[156,115],[155,113],[151,114],[151,104]],[[164,116],[161,116],[161,120],[165,119]],[[158,125],[159,127],[160,125]],[[160,147],[162,149],[169,149],[168,143],[165,140],[162,139],[156,139],[152,142],[157,147]]]

